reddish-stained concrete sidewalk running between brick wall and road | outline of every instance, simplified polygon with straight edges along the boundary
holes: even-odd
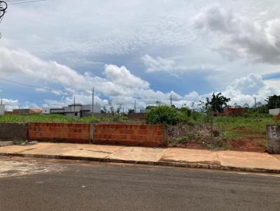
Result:
[[[259,152],[38,143],[0,147],[0,155],[280,173],[280,154]]]

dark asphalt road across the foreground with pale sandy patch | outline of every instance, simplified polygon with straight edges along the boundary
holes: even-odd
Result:
[[[0,210],[280,210],[280,177],[272,175],[43,159],[21,165],[31,174],[16,173],[19,165],[0,173]]]

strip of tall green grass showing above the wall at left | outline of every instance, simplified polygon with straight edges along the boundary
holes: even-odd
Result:
[[[63,115],[3,115],[0,123],[55,122],[55,123],[92,123],[127,122],[127,117],[66,117]]]

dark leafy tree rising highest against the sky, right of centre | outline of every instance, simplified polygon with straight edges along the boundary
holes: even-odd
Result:
[[[223,108],[228,106],[227,103],[229,101],[230,99],[223,96],[221,92],[216,95],[215,93],[213,93],[211,101],[209,100],[208,97],[206,98],[205,106],[207,110],[209,110],[210,108],[212,111],[215,112],[223,112]]]

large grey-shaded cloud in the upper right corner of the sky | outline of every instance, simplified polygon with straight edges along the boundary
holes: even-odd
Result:
[[[213,36],[212,49],[230,61],[280,64],[280,19],[255,21],[214,4],[194,19],[196,29]]]

